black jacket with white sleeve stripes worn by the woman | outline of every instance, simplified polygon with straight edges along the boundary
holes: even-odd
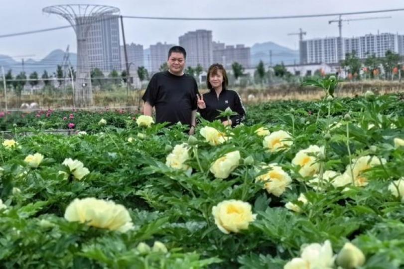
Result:
[[[237,112],[238,114],[230,117],[230,120],[232,120],[232,127],[239,125],[246,117],[246,110],[244,109],[243,102],[236,91],[223,89],[218,97],[215,90],[212,89],[209,93],[203,95],[203,101],[205,101],[206,108],[198,108],[198,112],[201,114],[202,118],[207,121],[227,121],[226,117],[217,117],[220,114],[218,110],[225,111],[225,109],[229,107],[232,111]]]

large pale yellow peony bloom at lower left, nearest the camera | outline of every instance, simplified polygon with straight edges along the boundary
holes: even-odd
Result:
[[[96,198],[74,199],[67,206],[64,218],[112,231],[126,232],[133,228],[131,216],[123,205]]]

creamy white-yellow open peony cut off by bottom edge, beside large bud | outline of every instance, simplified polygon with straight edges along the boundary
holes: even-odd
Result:
[[[333,269],[335,257],[330,241],[302,246],[300,258],[288,262],[284,269]]]

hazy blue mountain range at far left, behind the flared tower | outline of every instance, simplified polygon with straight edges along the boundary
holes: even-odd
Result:
[[[44,70],[46,70],[49,74],[53,74],[56,72],[57,65],[61,65],[63,63],[64,55],[65,52],[63,50],[55,49],[40,61],[25,59],[24,71],[28,76],[34,71],[41,76]],[[77,54],[69,53],[69,60],[74,69],[76,69]],[[4,67],[5,72],[11,69],[14,76],[22,71],[22,61],[16,61],[7,55],[0,55],[0,66]]]

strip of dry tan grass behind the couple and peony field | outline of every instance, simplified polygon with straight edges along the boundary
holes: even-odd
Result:
[[[204,86],[204,85],[201,85]],[[313,87],[301,87],[299,85],[291,84],[279,84],[266,88],[260,87],[248,87],[245,89],[239,89],[232,87],[232,89],[240,93],[243,102],[246,104],[255,104],[276,100],[318,100],[324,96],[324,93],[319,88]],[[372,80],[372,81],[360,81],[360,82],[341,82],[338,85],[335,95],[338,97],[354,97],[356,95],[362,95],[368,90],[372,90],[379,94],[397,93],[404,91],[404,83],[399,81],[384,81],[384,80]],[[201,88],[200,92],[205,93],[208,90]],[[140,105],[142,107],[141,96],[142,91],[130,91],[128,105],[135,107]],[[98,108],[119,108],[127,106],[127,93],[126,90],[117,91],[99,91],[93,95],[94,103],[92,107]],[[63,96],[61,93],[40,93],[33,95],[22,95],[21,100],[18,101],[17,97],[12,93],[8,94],[8,109],[19,109],[22,103],[35,102],[40,108],[64,108],[73,106],[72,95]],[[5,108],[5,99],[3,93],[0,92],[0,111]]]

